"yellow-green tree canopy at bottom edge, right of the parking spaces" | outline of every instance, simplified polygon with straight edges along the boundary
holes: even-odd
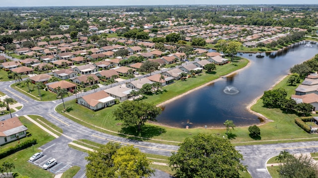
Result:
[[[151,161],[138,148],[108,142],[85,158],[87,178],[148,178]]]

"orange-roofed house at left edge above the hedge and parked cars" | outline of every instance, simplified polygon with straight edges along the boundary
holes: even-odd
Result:
[[[26,126],[17,118],[10,118],[1,121],[0,145],[23,138],[26,136]]]

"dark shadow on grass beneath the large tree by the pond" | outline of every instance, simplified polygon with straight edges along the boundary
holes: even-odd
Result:
[[[166,130],[164,128],[161,128],[155,125],[144,125],[141,128],[141,131],[138,131],[136,126],[126,126],[126,127],[122,127],[120,130],[120,133],[132,135],[132,136],[124,135],[124,137],[127,137],[132,140],[147,140],[147,138],[153,138],[154,136],[159,136],[165,132]],[[137,138],[137,137],[143,137],[146,139]]]

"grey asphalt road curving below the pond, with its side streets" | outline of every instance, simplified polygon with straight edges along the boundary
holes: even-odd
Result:
[[[0,82],[0,91],[23,105],[23,108],[18,112],[12,113],[12,116],[40,115],[55,125],[61,127],[63,129],[63,135],[41,146],[40,149],[43,150],[44,154],[57,158],[60,162],[67,163],[72,166],[79,166],[81,169],[75,178],[85,177],[84,174],[86,161],[84,160],[84,157],[87,156],[87,154],[71,149],[68,146],[68,143],[72,142],[73,140],[88,139],[102,144],[105,144],[109,141],[117,141],[123,144],[133,144],[144,153],[152,153],[164,156],[170,156],[171,152],[178,149],[178,146],[174,145],[130,140],[87,128],[77,122],[74,122],[73,120],[67,119],[55,111],[55,107],[62,103],[61,100],[51,102],[34,101],[28,96],[12,89],[10,87],[12,83],[12,81]],[[99,90],[105,88],[106,86],[99,88]],[[86,93],[82,93],[81,95],[86,95],[92,92],[93,91],[88,91]],[[75,96],[67,97],[64,99],[64,101],[73,99],[75,99]],[[10,118],[9,115],[0,117],[0,119],[8,118]],[[242,162],[244,165],[248,166],[247,169],[253,178],[270,178],[270,175],[266,171],[265,164],[269,158],[278,155],[279,152],[283,150],[286,150],[290,153],[318,152],[318,141],[267,145],[246,145],[237,146],[236,148],[241,152],[241,154],[243,154],[244,160]],[[169,175],[157,170],[153,178],[169,178]]]

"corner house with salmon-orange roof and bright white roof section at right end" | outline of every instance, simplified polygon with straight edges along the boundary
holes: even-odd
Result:
[[[80,97],[77,101],[78,104],[93,111],[115,104],[115,98],[109,96],[104,90]]]

